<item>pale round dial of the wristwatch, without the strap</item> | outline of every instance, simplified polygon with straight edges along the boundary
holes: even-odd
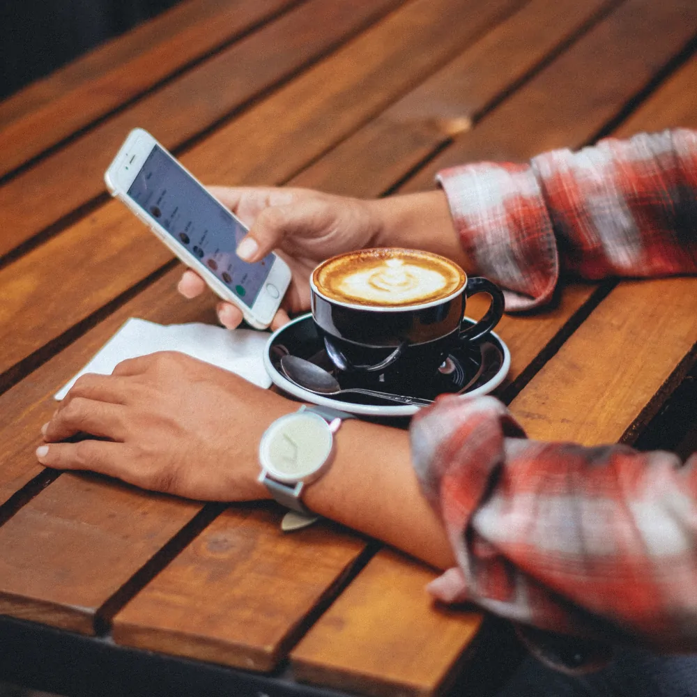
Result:
[[[332,432],[321,416],[296,412],[271,424],[261,439],[259,459],[274,479],[300,482],[321,470],[332,443]]]

